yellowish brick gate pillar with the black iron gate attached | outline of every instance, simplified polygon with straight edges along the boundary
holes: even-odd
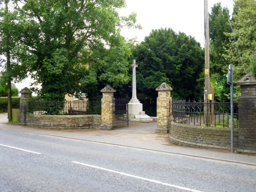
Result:
[[[113,96],[116,90],[110,86],[106,86],[101,91],[101,125],[102,130],[112,130],[113,129],[113,118],[114,118],[114,106],[113,106]]]

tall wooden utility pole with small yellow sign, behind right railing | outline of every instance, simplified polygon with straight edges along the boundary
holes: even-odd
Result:
[[[204,0],[204,38],[205,38],[205,68],[204,68],[204,122],[210,126],[210,56],[209,56],[209,13],[208,0]]]

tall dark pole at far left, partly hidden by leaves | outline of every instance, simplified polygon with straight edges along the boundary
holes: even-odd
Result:
[[[5,0],[5,23],[9,23],[9,15],[8,15],[8,3],[9,0]],[[8,18],[8,19],[7,19]],[[6,25],[7,26],[7,25]],[[11,84],[11,53],[10,53],[10,35],[9,31],[6,28],[6,67],[7,67],[7,87],[8,87],[8,121],[12,121],[12,84]]]

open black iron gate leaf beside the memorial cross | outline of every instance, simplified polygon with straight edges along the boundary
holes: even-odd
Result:
[[[113,98],[113,108],[113,127],[128,126],[128,98]]]

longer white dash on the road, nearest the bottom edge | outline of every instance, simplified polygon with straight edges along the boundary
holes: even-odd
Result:
[[[97,169],[101,169],[101,170],[106,170],[107,172],[112,172],[112,173],[124,175],[124,176],[127,176],[127,177],[133,177],[133,178],[136,178],[136,179],[150,181],[150,182],[154,182],[154,183],[158,183],[158,184],[162,184],[162,185],[167,185],[167,186],[170,186],[170,187],[175,187],[175,188],[179,188],[179,189],[183,189],[183,190],[194,191],[194,192],[201,192],[200,190],[194,190],[194,189],[190,189],[190,188],[186,188],[186,187],[182,187],[182,186],[178,186],[178,185],[173,185],[173,184],[169,184],[169,183],[163,183],[161,181],[156,181],[156,180],[153,180],[153,179],[147,179],[147,178],[144,178],[144,177],[139,177],[139,176],[135,176],[135,175],[125,174],[125,173],[122,173],[122,172],[117,172],[116,170],[112,170],[112,169],[108,169],[108,168],[103,168],[103,167],[99,167],[99,166],[94,166],[94,165],[89,165],[89,164],[85,164],[85,163],[80,163],[80,162],[77,162],[77,161],[72,161],[72,163],[76,163],[76,164],[80,164],[80,165],[84,165],[84,166],[88,166],[88,167],[92,167],[92,168],[97,168]]]

